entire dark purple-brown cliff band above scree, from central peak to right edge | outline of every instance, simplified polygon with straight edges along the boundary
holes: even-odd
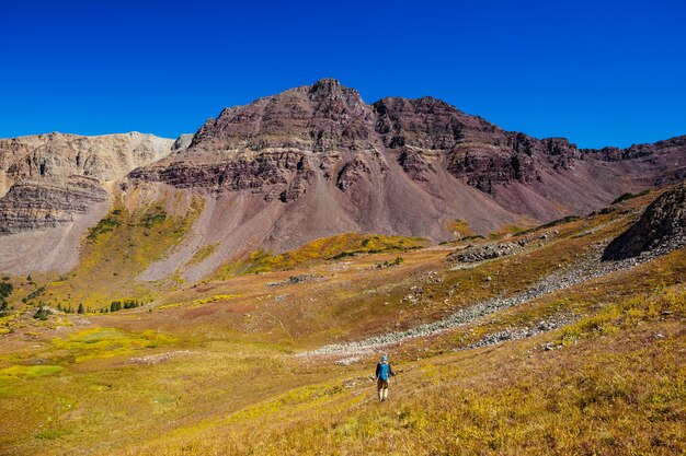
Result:
[[[685,154],[685,142],[674,139],[670,144],[634,145],[626,151],[580,150],[564,138],[539,140],[505,131],[432,97],[390,97],[366,105],[354,89],[325,79],[224,109],[217,119],[205,122],[182,154],[137,169],[130,177],[214,190],[263,188],[270,195],[297,188],[282,198],[287,202],[306,194],[319,176],[324,180],[336,176],[335,185],[344,191],[361,173],[370,173],[371,160],[356,159],[362,153],[375,156],[382,174],[396,162],[410,179],[427,183],[425,190],[432,195],[442,194],[431,185],[441,167],[491,196],[516,183],[550,199],[564,198],[564,192],[556,189],[556,195],[548,195],[545,175],[572,175],[580,162],[587,168],[601,162],[652,157],[661,151]],[[290,159],[284,166],[281,155],[274,154],[288,154],[300,162],[306,155],[312,159],[306,171],[299,169],[294,184]],[[686,174],[686,166],[661,177],[673,182],[679,173]],[[582,183],[580,190],[587,187]],[[574,195],[576,200],[580,197]],[[552,206],[581,206],[576,200]]]

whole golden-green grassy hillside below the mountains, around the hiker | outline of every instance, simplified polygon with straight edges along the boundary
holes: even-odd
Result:
[[[85,300],[106,277],[83,267],[76,277],[8,276],[0,448],[682,454],[684,227],[670,225],[636,256],[603,260],[643,214],[682,213],[682,194],[626,196],[583,218],[443,245],[321,238],[250,256],[201,283],[110,289],[113,302],[91,300],[83,314],[60,311],[76,311],[67,293]],[[175,243],[162,230],[171,213],[112,212],[119,224],[102,225],[89,248],[160,237],[135,261],[126,252],[103,260],[118,265],[105,276],[135,274],[155,248]],[[53,314],[33,318],[41,302]],[[400,374],[379,404],[369,375],[380,353]]]

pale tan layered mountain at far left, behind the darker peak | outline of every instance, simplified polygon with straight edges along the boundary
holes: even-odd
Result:
[[[0,140],[0,269],[76,266],[83,233],[112,206],[113,183],[168,155],[174,144],[137,132]]]

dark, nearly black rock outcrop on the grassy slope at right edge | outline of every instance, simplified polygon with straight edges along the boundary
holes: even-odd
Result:
[[[605,260],[639,256],[675,238],[686,239],[686,185],[665,191],[641,218],[613,241],[603,254]]]

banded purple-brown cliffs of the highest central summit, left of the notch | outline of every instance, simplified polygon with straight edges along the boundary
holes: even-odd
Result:
[[[307,194],[319,176],[336,176],[343,190],[369,172],[364,160],[346,157],[380,147],[374,119],[357,91],[325,79],[224,109],[187,151],[128,177],[214,194],[248,190],[282,202]]]

